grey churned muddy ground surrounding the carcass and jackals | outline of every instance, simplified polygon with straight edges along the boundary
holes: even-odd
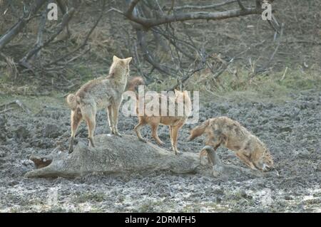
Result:
[[[67,152],[69,110],[63,105],[41,103],[36,114],[21,110],[0,115],[0,211],[200,211],[200,212],[320,212],[321,211],[321,91],[297,92],[289,101],[220,101],[203,105],[200,121],[226,115],[241,122],[262,139],[275,159],[280,176],[238,176],[218,179],[168,172],[76,179],[26,179],[34,168],[32,152],[49,154],[58,147]],[[133,134],[136,117],[121,116],[118,128]],[[96,134],[108,133],[106,112],[97,117]],[[199,152],[203,137],[186,142],[191,127],[180,133],[181,152]],[[143,136],[149,136],[145,127]],[[170,149],[167,127],[158,130]],[[78,141],[86,141],[81,125]],[[225,164],[245,167],[224,148]],[[235,175],[237,176],[237,175]]]

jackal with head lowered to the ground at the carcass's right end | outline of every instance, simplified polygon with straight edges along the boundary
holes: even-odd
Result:
[[[273,159],[265,144],[245,129],[239,122],[228,117],[215,117],[205,120],[190,131],[188,141],[205,133],[205,145],[214,150],[223,144],[233,150],[250,169],[269,171],[274,169]],[[204,155],[202,149],[200,155]]]

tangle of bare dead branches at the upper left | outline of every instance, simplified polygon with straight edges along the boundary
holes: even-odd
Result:
[[[66,85],[59,85],[59,83],[54,83],[54,78],[56,78],[56,74],[65,70],[65,68],[68,68],[68,66],[71,66],[75,60],[90,51],[90,47],[86,48],[86,46],[88,45],[88,40],[91,34],[95,30],[96,26],[98,26],[98,23],[99,21],[101,21],[103,15],[106,13],[106,0],[101,0],[101,13],[99,14],[98,19],[95,21],[91,29],[86,34],[86,37],[83,38],[82,43],[72,51],[62,51],[62,56],[54,58],[54,60],[47,57],[40,58],[40,51],[45,50],[49,46],[53,46],[53,43],[56,43],[56,38],[58,37],[58,35],[61,34],[61,32],[65,29],[67,32],[67,36],[70,36],[71,31],[69,28],[69,22],[71,21],[71,19],[73,19],[73,15],[76,11],[78,11],[81,4],[79,4],[79,1],[76,0],[71,1],[71,3],[69,3],[69,6],[71,7],[68,8],[65,2],[57,1],[58,6],[63,13],[62,19],[56,26],[56,30],[53,31],[50,36],[44,38],[45,33],[48,33],[48,28],[46,28],[46,15],[48,14],[48,9],[46,7],[43,7],[45,2],[46,1],[38,0],[36,1],[36,3],[34,3],[34,6],[31,4],[30,11],[24,12],[23,16],[21,16],[16,25],[12,26],[0,38],[1,50],[1,48],[4,48],[7,43],[9,43],[20,31],[22,31],[24,26],[26,26],[26,24],[31,21],[31,19],[34,19],[36,17],[37,11],[43,9],[42,16],[40,17],[41,20],[39,21],[35,45],[31,49],[29,49],[29,51],[26,51],[24,56],[21,57],[17,62],[7,56],[4,56],[3,53],[1,53],[0,58],[4,58],[6,64],[9,65],[9,68],[12,69],[13,72],[11,72],[10,74],[13,75],[11,76],[13,78],[16,78],[19,72],[30,72],[35,76],[34,78],[41,81],[42,83],[52,85],[58,89],[61,89],[64,86],[66,86],[66,88],[70,88],[71,84],[68,81]],[[39,18],[38,14],[37,17]],[[83,50],[83,48],[86,49]],[[46,53],[50,53],[50,51],[46,50]],[[12,65],[14,65],[14,67],[12,67]],[[51,79],[47,80],[44,75],[49,75]],[[60,78],[59,80],[61,80]]]

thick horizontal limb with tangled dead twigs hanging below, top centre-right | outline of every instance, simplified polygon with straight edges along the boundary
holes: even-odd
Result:
[[[133,53],[133,56],[136,56],[136,61],[141,62],[139,58],[142,57],[152,65],[152,71],[156,69],[163,75],[167,75],[167,78],[176,78],[177,83],[168,88],[168,90],[173,90],[174,88],[182,87],[188,78],[205,68],[212,72],[214,79],[218,78],[228,68],[228,65],[235,62],[235,58],[229,58],[230,60],[225,65],[221,65],[220,68],[213,68],[209,58],[213,53],[207,53],[201,43],[194,41],[195,37],[191,38],[185,21],[222,20],[261,14],[263,12],[262,1],[255,0],[253,2],[255,6],[245,6],[243,1],[240,0],[223,1],[218,4],[204,6],[175,6],[175,1],[172,1],[171,6],[168,7],[161,6],[158,0],[132,0],[128,3],[125,11],[115,8],[111,10],[125,16],[136,31],[138,46]],[[220,6],[230,5],[238,6],[238,8],[224,10],[219,8]],[[210,11],[213,9],[220,10]],[[173,22],[179,22],[178,26],[173,26]],[[180,28],[180,33],[176,31],[178,27]],[[151,36],[152,34],[153,36]],[[182,36],[185,36],[185,38],[182,38]],[[153,48],[153,46],[156,46],[156,48]],[[165,52],[170,62],[161,60],[160,53],[162,51],[157,51],[158,46],[165,46],[163,49],[166,50]],[[141,49],[141,56],[137,54],[138,48]],[[143,73],[143,68],[139,68],[138,72],[146,76],[146,73]],[[158,78],[157,80],[160,79]]]

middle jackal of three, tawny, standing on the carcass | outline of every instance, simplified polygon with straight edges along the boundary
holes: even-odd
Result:
[[[159,103],[161,105],[161,102],[167,102],[167,96],[158,94],[159,98]],[[156,142],[160,145],[164,144],[161,139],[158,137],[157,129],[158,125],[168,125],[169,126],[169,131],[170,131],[170,142],[172,144],[172,149],[175,152],[175,154],[178,154],[178,149],[177,149],[177,139],[178,139],[178,131],[180,130],[181,127],[185,124],[186,120],[188,119],[188,116],[190,115],[190,110],[191,110],[191,102],[190,102],[190,97],[188,95],[188,92],[184,90],[183,92],[179,90],[175,90],[175,99],[173,100],[170,99],[169,101],[178,104],[178,102],[185,102],[185,111],[183,116],[148,116],[148,115],[143,115],[139,116],[138,115],[138,125],[135,126],[134,130],[137,134],[138,139],[140,139],[143,142],[146,142],[145,139],[141,136],[141,127],[143,125],[150,125],[151,126],[151,131],[152,131],[152,137],[156,140]],[[146,105],[147,102],[144,103]],[[167,106],[168,108],[168,106]],[[160,108],[161,109],[161,108]],[[161,111],[161,110],[160,110]],[[138,102],[136,104],[136,112],[138,113]],[[168,113],[168,110],[166,110],[166,113]]]

